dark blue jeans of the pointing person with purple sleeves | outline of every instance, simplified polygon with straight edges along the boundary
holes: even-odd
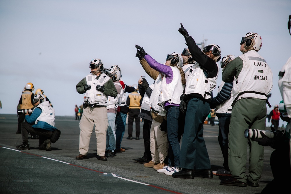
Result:
[[[168,165],[178,168],[180,165],[180,144],[178,140],[178,118],[179,118],[179,106],[166,106],[167,113],[167,129],[168,129]]]

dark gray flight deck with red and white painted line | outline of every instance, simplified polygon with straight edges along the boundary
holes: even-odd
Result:
[[[142,123],[140,140],[127,140],[126,127],[121,145],[126,151],[108,161],[94,155],[95,132],[88,159],[76,160],[79,121],[73,116],[56,116],[55,123],[61,137],[52,144],[52,151],[38,149],[37,139],[29,139],[30,150],[17,150],[15,146],[22,143],[21,134],[15,134],[17,115],[0,114],[0,193],[260,193],[273,179],[269,159],[274,149],[268,146],[259,187],[223,186],[218,176],[176,179],[135,163],[144,152]],[[223,163],[217,137],[218,125],[204,125],[212,170],[222,168]]]

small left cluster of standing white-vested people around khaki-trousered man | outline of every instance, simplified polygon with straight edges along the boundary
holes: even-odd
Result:
[[[76,85],[77,92],[84,94],[83,115],[79,124],[80,154],[76,159],[87,159],[91,134],[95,129],[97,159],[107,161],[116,152],[125,151],[121,141],[129,112],[126,92],[134,92],[136,88],[124,83],[117,65],[105,69],[102,61],[95,58],[89,68],[91,74]]]

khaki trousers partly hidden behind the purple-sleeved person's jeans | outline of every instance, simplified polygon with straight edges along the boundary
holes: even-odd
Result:
[[[167,132],[161,131],[160,122],[152,120],[150,127],[150,154],[154,163],[164,162],[168,154]]]

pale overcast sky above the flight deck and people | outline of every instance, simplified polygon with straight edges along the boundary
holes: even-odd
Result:
[[[44,90],[56,115],[74,115],[74,105],[83,103],[75,85],[89,74],[93,58],[105,68],[119,65],[127,85],[140,76],[152,82],[134,45],[164,63],[167,54],[187,47],[178,33],[180,23],[197,43],[218,44],[222,57],[241,55],[239,43],[247,32],[261,35],[259,54],[273,71],[269,102],[274,106],[282,99],[278,72],[291,56],[289,15],[290,0],[1,0],[0,113],[16,114],[22,90],[31,82],[33,92]]]

